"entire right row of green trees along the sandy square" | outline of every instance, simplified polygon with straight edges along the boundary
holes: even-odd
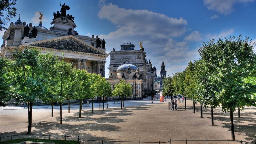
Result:
[[[183,72],[164,80],[164,94],[181,94],[213,109],[220,106],[230,113],[231,137],[235,140],[233,112],[245,106],[256,106],[256,54],[255,43],[249,37],[222,38],[203,43],[201,58],[188,63]],[[186,107],[185,107],[186,108]]]

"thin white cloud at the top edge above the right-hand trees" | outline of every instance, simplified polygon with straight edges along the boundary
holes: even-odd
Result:
[[[230,14],[234,11],[236,3],[253,2],[253,0],[204,0],[204,5],[208,10],[214,10],[222,14]]]

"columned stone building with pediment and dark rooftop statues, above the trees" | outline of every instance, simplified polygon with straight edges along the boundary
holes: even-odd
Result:
[[[36,48],[43,53],[52,52],[56,56],[64,56],[64,61],[72,62],[77,69],[87,69],[90,73],[105,76],[105,63],[108,54],[105,41],[98,36],[94,38],[81,36],[74,29],[74,17],[67,15],[69,7],[61,6],[61,13],[53,13],[52,27],[45,28],[40,17],[39,25],[26,25],[19,19],[10,23],[2,37],[4,42],[0,49],[0,56],[13,59],[12,52],[23,51],[27,48]],[[41,16],[42,13],[40,12]]]

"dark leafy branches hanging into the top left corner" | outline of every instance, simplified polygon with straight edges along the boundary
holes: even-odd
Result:
[[[16,4],[16,0],[1,0],[0,1],[0,30],[7,29],[4,27],[7,21],[16,16],[17,9],[13,7]]]

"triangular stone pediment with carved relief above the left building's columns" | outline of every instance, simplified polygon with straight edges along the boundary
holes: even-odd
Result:
[[[93,53],[93,54],[108,56],[107,53],[98,50],[92,45],[89,45],[84,41],[80,40],[79,38],[76,38],[75,36],[72,36],[72,35],[25,43],[25,44],[22,44],[22,46],[35,46],[35,47],[52,48],[57,50],[74,51],[74,52],[85,52],[85,53]]]

